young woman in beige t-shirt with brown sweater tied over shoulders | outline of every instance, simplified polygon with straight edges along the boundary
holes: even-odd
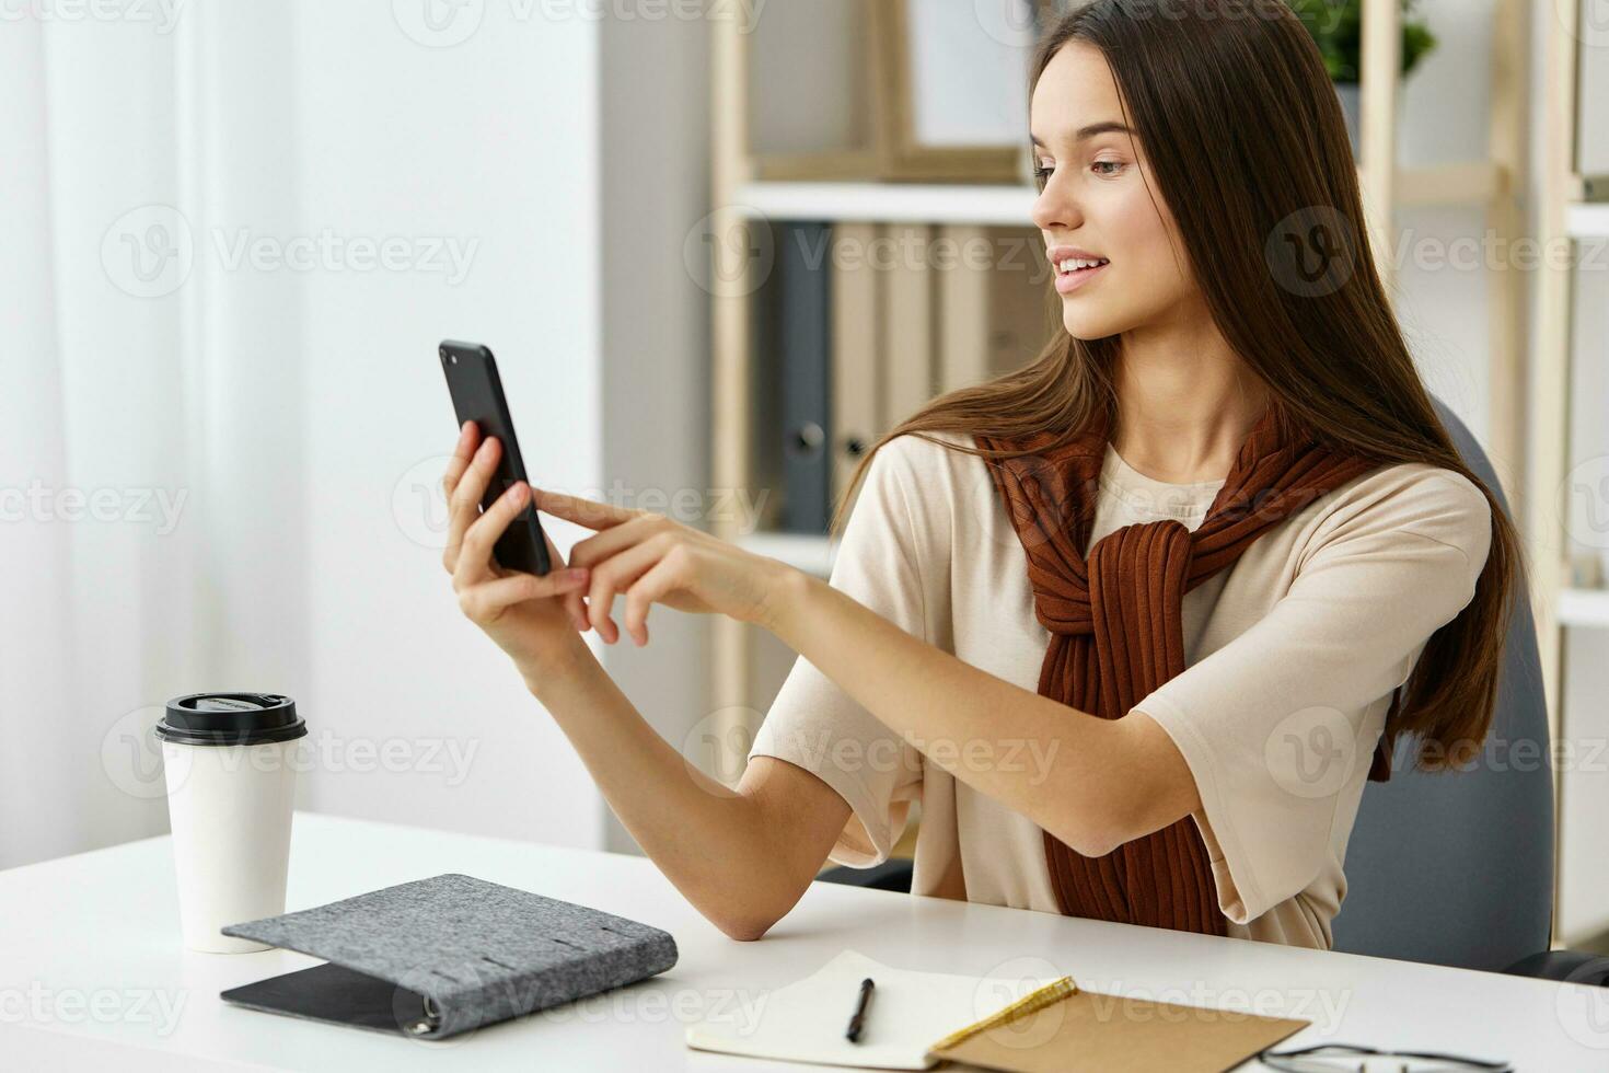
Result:
[[[830,584],[553,492],[478,515],[497,444],[473,426],[446,566],[734,938],[825,859],[883,861],[920,801],[916,893],[1329,948],[1390,743],[1434,769],[1487,734],[1516,534],[1419,381],[1282,3],[1094,0],[1033,71],[1065,333],[877,444]],[[489,563],[528,495],[597,531],[581,576]],[[639,645],[665,603],[803,656],[735,790],[690,779],[582,643],[618,640],[616,595]]]

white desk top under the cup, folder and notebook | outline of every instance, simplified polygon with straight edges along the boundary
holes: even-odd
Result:
[[[290,951],[185,951],[169,838],[148,838],[0,872],[0,1067],[814,1068],[689,1050],[682,1030],[703,1015],[742,1017],[740,1004],[753,1009],[764,989],[853,948],[907,968],[977,976],[1065,972],[1094,991],[1315,1022],[1282,1046],[1327,1038],[1503,1057],[1519,1070],[1548,1073],[1609,1068],[1609,1004],[1595,988],[830,883],[813,885],[761,941],[737,943],[642,857],[315,812],[296,814],[286,909],[441,872],[656,925],[676,936],[681,959],[613,996],[439,1042],[238,1009],[217,993],[319,960]],[[177,1009],[177,1017],[164,1009]]]

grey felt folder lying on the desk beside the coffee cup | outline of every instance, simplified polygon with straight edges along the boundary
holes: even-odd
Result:
[[[222,931],[328,964],[219,997],[422,1039],[545,1010],[676,964],[668,931],[457,874]]]

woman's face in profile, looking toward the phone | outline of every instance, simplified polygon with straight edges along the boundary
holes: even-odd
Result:
[[[1162,325],[1199,307],[1173,214],[1142,177],[1149,164],[1123,124],[1117,84],[1093,45],[1068,42],[1051,60],[1030,105],[1035,167],[1044,190],[1033,222],[1057,264],[1062,323],[1078,339]],[[1105,259],[1064,273],[1057,248]]]

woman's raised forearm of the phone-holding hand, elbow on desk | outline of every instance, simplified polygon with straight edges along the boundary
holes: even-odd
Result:
[[[727,935],[782,917],[819,861],[784,851],[763,803],[710,779],[648,726],[579,634],[526,685],[570,738],[621,824]],[[795,874],[796,872],[796,874]]]

